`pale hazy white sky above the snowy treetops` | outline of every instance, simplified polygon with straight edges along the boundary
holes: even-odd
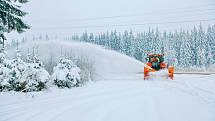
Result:
[[[114,29],[133,29],[139,32],[149,26],[173,31],[191,28],[200,21],[169,22],[215,19],[215,0],[29,0],[23,9],[29,13],[25,21],[32,26],[31,30],[22,34],[25,36],[32,33],[98,33]],[[214,24],[215,20],[201,23],[207,26]]]

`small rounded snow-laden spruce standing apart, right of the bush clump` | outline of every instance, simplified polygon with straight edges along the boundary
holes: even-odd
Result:
[[[71,60],[61,58],[53,70],[53,83],[60,88],[77,87],[81,83],[80,71],[80,68]]]

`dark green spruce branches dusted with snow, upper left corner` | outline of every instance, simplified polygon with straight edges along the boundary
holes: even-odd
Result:
[[[10,33],[11,31],[22,33],[25,29],[30,28],[21,19],[26,15],[26,12],[20,10],[20,5],[26,2],[28,1],[0,0],[0,40],[3,47],[6,40],[4,33]]]

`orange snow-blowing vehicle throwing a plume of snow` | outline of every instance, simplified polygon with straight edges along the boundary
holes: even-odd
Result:
[[[144,80],[149,79],[150,74],[167,68],[167,77],[173,80],[174,67],[164,63],[164,54],[148,54],[147,63],[144,66]]]

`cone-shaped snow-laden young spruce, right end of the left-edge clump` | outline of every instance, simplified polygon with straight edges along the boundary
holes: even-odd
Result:
[[[37,56],[34,56],[33,62],[28,63],[22,77],[19,79],[21,87],[17,91],[41,91],[47,87],[49,79],[49,73],[44,69],[43,63]]]

